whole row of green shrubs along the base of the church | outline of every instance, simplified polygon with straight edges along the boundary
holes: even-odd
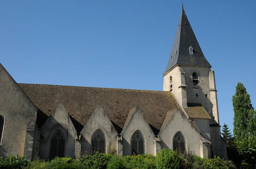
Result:
[[[241,169],[253,169],[243,162]],[[121,157],[96,152],[82,155],[79,159],[70,157],[52,160],[26,161],[19,156],[0,158],[0,169],[236,169],[232,161],[214,157],[204,159],[188,151],[178,153],[171,149],[162,149],[157,156],[132,155]]]

